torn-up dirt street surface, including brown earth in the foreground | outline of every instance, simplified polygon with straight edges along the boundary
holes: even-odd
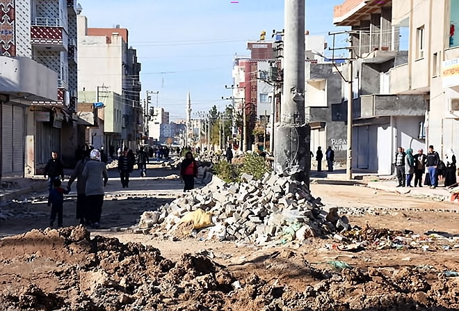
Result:
[[[10,205],[15,216],[1,223],[3,236],[45,231],[0,240],[0,305],[10,310],[459,310],[459,278],[442,274],[459,271],[457,204],[362,186],[311,186],[325,204],[343,207],[352,225],[411,230],[425,237],[429,248],[368,247],[351,253],[337,250],[332,239],[256,247],[110,230],[133,225],[143,211],[172,200],[182,188],[172,173],[151,170],[147,179],[134,178],[128,191],[113,178],[102,230],[45,230],[45,203]],[[65,225],[76,225],[74,205],[73,198],[65,202]],[[428,231],[457,237],[458,248],[444,248],[442,239],[428,242]],[[354,269],[336,271],[333,261]]]

